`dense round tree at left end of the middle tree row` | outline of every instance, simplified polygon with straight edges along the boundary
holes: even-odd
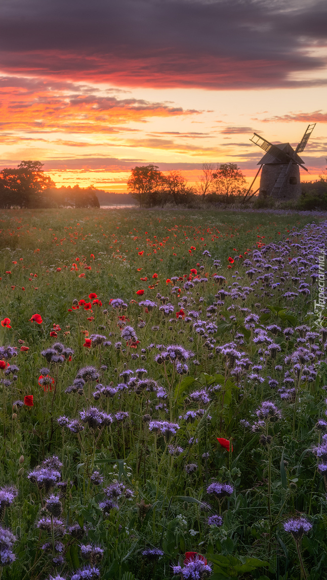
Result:
[[[156,205],[158,193],[164,183],[164,176],[157,165],[141,165],[132,169],[127,181],[128,190],[139,205]]]

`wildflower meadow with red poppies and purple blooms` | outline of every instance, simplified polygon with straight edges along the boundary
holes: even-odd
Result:
[[[326,575],[327,223],[8,210],[0,230],[0,578]]]

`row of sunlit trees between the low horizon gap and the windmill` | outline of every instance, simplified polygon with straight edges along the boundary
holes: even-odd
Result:
[[[235,163],[204,163],[199,182],[193,187],[188,186],[180,171],[164,175],[157,165],[136,166],[127,187],[141,207],[189,205],[195,196],[207,202],[231,201],[246,192],[245,176]]]

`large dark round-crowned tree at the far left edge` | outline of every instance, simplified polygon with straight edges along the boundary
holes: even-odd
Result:
[[[44,192],[55,183],[45,176],[41,161],[21,161],[17,169],[0,171],[0,205],[10,208],[37,208],[42,205]]]

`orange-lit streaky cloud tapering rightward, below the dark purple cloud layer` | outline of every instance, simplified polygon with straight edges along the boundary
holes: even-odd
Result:
[[[103,94],[97,92],[99,89],[91,85],[0,77],[0,127],[4,132],[107,134],[132,131],[121,127],[132,121],[145,123],[153,117],[199,113],[171,103],[122,98],[123,95],[110,95],[107,90]]]

